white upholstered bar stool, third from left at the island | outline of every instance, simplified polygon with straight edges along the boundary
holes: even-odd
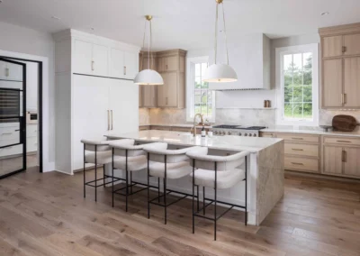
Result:
[[[189,147],[179,150],[168,150],[166,142],[159,142],[157,147],[146,146],[144,147],[144,151],[148,153],[148,218],[150,218],[150,204],[162,206],[164,207],[164,215],[165,220],[164,224],[166,224],[167,220],[167,206],[171,206],[176,202],[184,199],[185,197],[191,197],[191,195],[178,192],[175,190],[167,189],[166,188],[166,179],[177,179],[183,178],[189,175],[192,171],[189,159],[186,156],[187,151],[191,151],[196,147]],[[157,197],[150,199],[149,194],[149,178],[150,177],[157,177],[163,178],[163,195],[160,195],[158,192]],[[171,203],[166,202],[166,196],[174,193],[182,195]],[[164,204],[160,203],[160,198],[164,197]],[[157,202],[155,202],[157,200]]]

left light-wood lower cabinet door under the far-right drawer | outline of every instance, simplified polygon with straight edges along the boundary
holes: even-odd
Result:
[[[342,174],[342,147],[324,146],[324,172],[329,174]]]

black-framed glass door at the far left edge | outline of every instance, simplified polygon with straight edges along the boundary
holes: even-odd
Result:
[[[26,169],[26,64],[0,58],[0,178]]]

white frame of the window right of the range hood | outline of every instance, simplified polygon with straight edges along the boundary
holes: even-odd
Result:
[[[312,52],[312,121],[303,118],[284,118],[284,55]],[[276,55],[276,124],[319,125],[319,43],[303,44],[275,49]]]

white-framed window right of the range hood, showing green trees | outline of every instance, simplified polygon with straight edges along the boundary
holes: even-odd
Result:
[[[318,44],[276,49],[277,124],[318,125]]]

